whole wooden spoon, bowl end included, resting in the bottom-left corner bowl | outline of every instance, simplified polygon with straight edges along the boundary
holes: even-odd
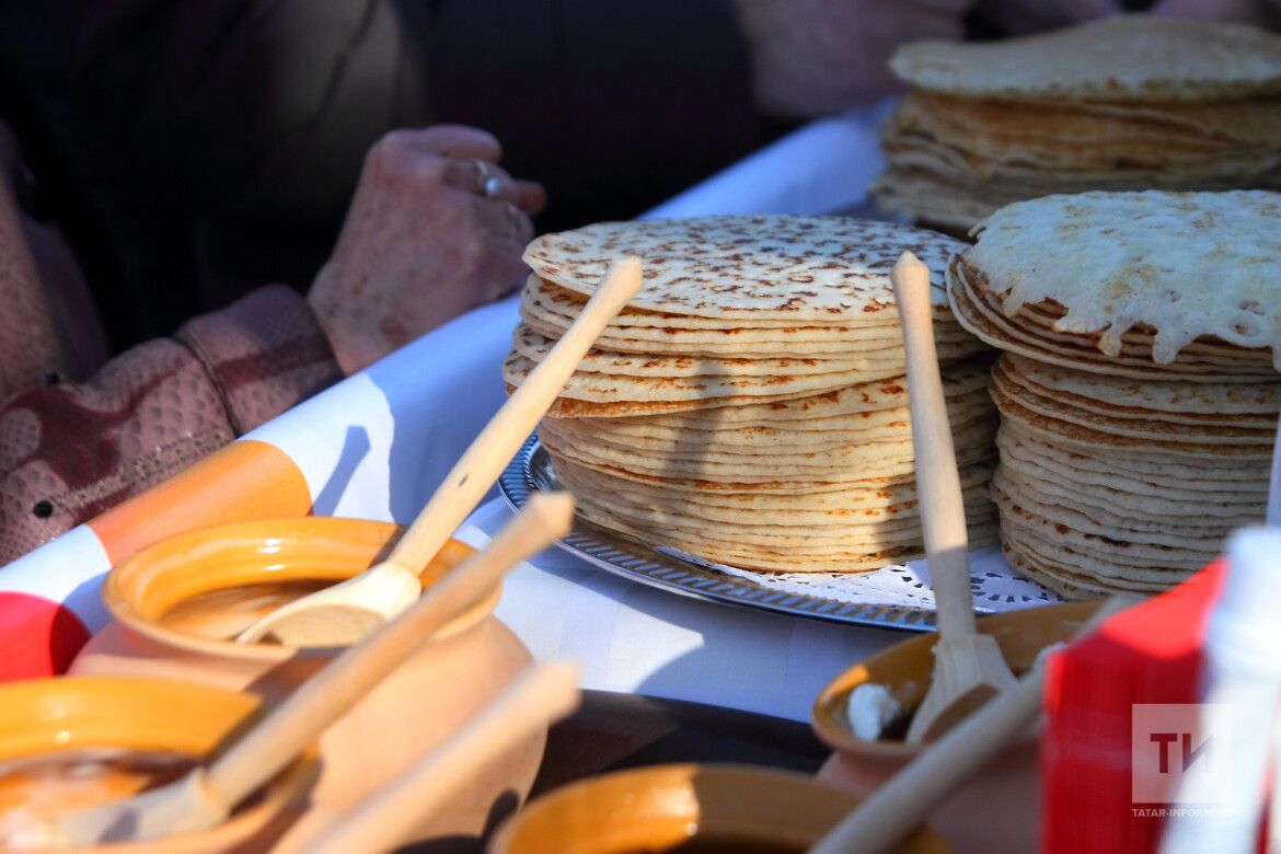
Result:
[[[569,533],[573,519],[569,493],[533,495],[484,551],[368,640],[334,658],[208,768],[128,800],[60,816],[46,828],[49,844],[146,841],[225,821],[236,804],[314,744],[425,638],[487,594],[512,566]]]

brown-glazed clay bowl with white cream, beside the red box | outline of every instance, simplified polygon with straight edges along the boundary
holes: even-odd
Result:
[[[1041,649],[1070,640],[1098,602],[1072,602],[980,617],[979,631],[997,639],[1006,662],[1022,673]],[[938,634],[916,635],[858,662],[836,676],[813,704],[815,732],[835,754],[820,778],[871,791],[916,757],[922,745],[902,737],[861,739],[847,714],[849,694],[863,684],[884,686],[901,709],[917,708],[930,688]],[[892,731],[906,731],[906,726]],[[958,851],[1036,850],[1040,813],[1036,735],[1029,730],[961,791],[931,814],[930,823]],[[999,822],[993,816],[1000,816]]]

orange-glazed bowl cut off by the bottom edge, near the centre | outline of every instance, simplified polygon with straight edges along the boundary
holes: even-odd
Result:
[[[507,819],[489,854],[626,854],[687,850],[804,851],[860,798],[792,771],[669,764],[619,771],[551,791]],[[687,849],[676,846],[684,845]],[[899,849],[942,854],[917,831]]]

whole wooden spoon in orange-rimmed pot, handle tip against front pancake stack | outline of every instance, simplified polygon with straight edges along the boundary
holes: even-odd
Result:
[[[583,312],[471,442],[391,557],[342,584],[277,608],[236,640],[256,643],[273,636],[291,647],[351,644],[414,604],[423,588],[436,581],[425,574],[420,576],[421,567],[428,566],[450,534],[475,510],[601,330],[635,296],[640,284],[637,259],[610,266]]]

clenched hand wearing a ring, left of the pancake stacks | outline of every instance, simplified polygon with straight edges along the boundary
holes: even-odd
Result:
[[[484,131],[392,131],[365,156],[329,262],[307,293],[352,374],[518,286],[543,188],[496,164]]]

